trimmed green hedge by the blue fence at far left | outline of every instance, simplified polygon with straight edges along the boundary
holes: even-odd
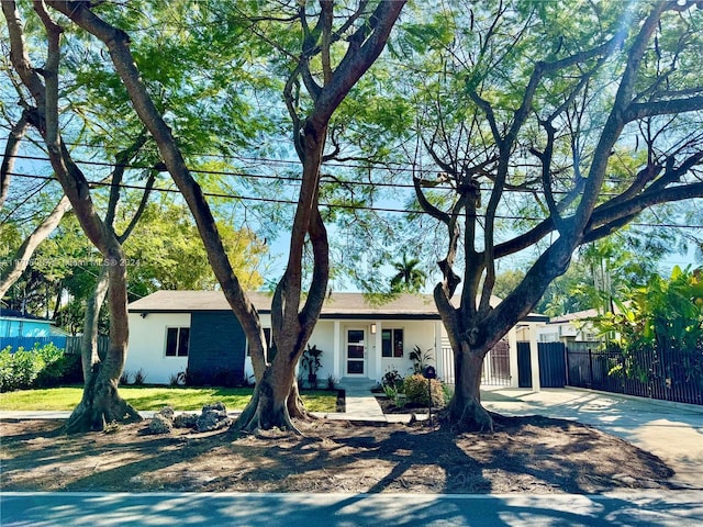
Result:
[[[52,343],[0,350],[0,392],[74,382],[82,382],[80,356],[68,355]]]

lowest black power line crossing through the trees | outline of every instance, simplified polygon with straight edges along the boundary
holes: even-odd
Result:
[[[26,179],[41,179],[41,180],[55,180],[55,178],[49,176],[40,176],[40,175],[31,175],[31,173],[20,173],[20,172],[8,172],[10,176],[14,176],[18,178],[26,178]],[[111,187],[112,183],[104,181],[88,181],[89,184],[94,187]],[[127,190],[146,190],[145,186],[140,184],[129,184],[129,183],[120,183],[118,187],[121,189]],[[154,192],[164,192],[164,193],[175,193],[180,194],[180,190],[178,189],[166,189],[163,187],[153,187],[150,191]],[[238,194],[225,194],[217,192],[203,192],[203,194],[208,198],[220,198],[220,199],[230,199],[230,200],[238,200],[238,201],[255,201],[261,203],[276,203],[276,204],[284,204],[284,205],[294,205],[298,203],[297,200],[281,200],[275,198],[258,198],[253,195],[238,195]],[[388,213],[397,213],[397,214],[423,214],[429,215],[428,212],[422,210],[414,209],[389,209],[381,206],[369,206],[369,205],[350,205],[344,203],[320,203],[320,206],[325,206],[327,209],[346,209],[346,210],[358,210],[358,211],[371,211],[371,212],[388,212]],[[477,217],[483,217],[481,215],[477,215]],[[531,222],[542,222],[546,218],[544,217],[531,217],[531,216],[510,216],[510,215],[495,215],[496,220],[511,220],[511,221],[531,221]],[[703,229],[703,225],[679,225],[673,223],[631,223],[631,225],[641,226],[641,227],[669,227],[669,228],[701,228]]]

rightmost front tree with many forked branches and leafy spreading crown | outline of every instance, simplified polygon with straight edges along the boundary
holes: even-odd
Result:
[[[703,11],[694,1],[459,3],[408,37],[417,46],[424,35],[431,57],[415,92],[419,133],[442,171],[414,182],[448,238],[434,289],[454,350],[448,419],[492,429],[483,358],[574,249],[647,208],[703,197]],[[496,261],[528,248],[536,260],[491,305]]]

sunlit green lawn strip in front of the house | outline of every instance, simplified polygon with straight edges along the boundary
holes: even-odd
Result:
[[[82,388],[49,388],[19,390],[0,393],[0,410],[74,410],[80,401]],[[166,386],[120,386],[120,395],[136,410],[199,411],[203,405],[222,401],[227,410],[243,410],[252,399],[250,388],[166,388]],[[311,412],[334,412],[337,392],[302,392],[305,407]]]

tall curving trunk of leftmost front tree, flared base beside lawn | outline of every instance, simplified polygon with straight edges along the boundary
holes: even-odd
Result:
[[[12,65],[36,103],[40,119],[33,124],[46,143],[56,179],[64,188],[80,226],[100,250],[104,265],[109,267],[110,348],[105,360],[97,362],[86,379],[82,400],[66,424],[66,430],[69,433],[99,430],[109,422],[133,422],[142,418],[118,394],[118,382],[124,367],[129,339],[126,267],[122,246],[112,225],[105,225],[100,220],[90,197],[90,184],[72,161],[60,137],[58,79],[63,30],[51,19],[43,3],[34,3],[34,10],[46,30],[48,40],[43,76],[40,76],[38,68],[32,65],[25,48],[23,24],[15,2],[3,1],[2,13],[8,22]]]

